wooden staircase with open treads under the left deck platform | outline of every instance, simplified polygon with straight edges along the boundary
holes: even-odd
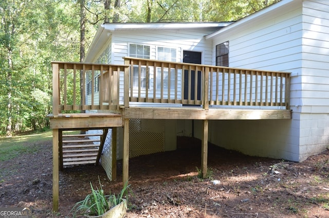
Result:
[[[59,134],[59,163],[64,166],[99,163],[108,129],[102,134]],[[97,137],[97,139],[89,139]]]

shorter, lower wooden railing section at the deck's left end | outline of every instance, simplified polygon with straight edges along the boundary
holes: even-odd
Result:
[[[62,111],[118,110],[119,75],[127,67],[52,62],[53,115]]]

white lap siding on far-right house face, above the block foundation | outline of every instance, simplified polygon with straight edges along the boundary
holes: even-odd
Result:
[[[303,112],[329,111],[329,2],[303,2]],[[321,93],[321,94],[320,94]],[[327,107],[327,108],[325,108]],[[315,111],[316,110],[316,111]]]

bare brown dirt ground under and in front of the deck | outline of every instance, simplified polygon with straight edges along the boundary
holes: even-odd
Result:
[[[329,217],[329,151],[301,163],[250,157],[209,145],[209,178],[197,176],[200,141],[178,138],[176,151],[131,158],[126,217]],[[35,217],[72,217],[72,206],[90,193],[122,187],[100,166],[60,172],[60,210],[52,213],[51,141],[27,144],[38,152],[0,162],[0,207],[32,206]],[[218,181],[214,181],[218,180]],[[217,184],[217,183],[218,184]]]

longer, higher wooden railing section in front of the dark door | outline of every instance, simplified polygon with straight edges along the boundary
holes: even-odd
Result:
[[[124,77],[124,93],[131,102],[289,108],[289,72],[124,60],[131,66]]]

